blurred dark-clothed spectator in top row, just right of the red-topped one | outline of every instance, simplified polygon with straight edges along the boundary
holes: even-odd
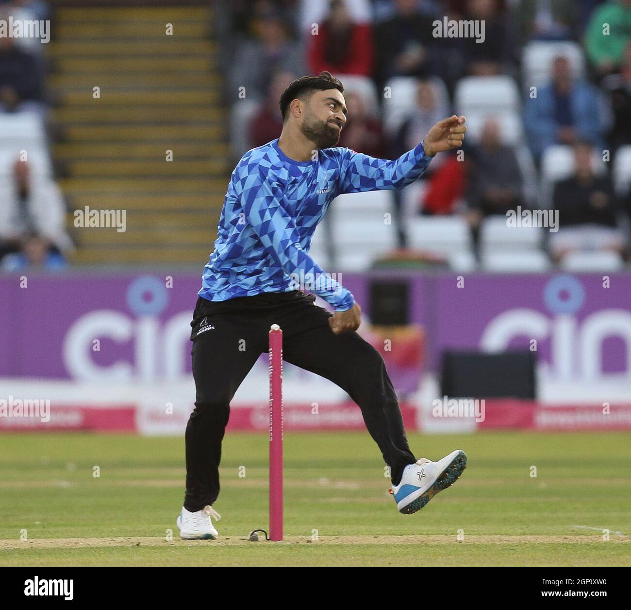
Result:
[[[394,0],[394,16],[375,27],[375,76],[380,86],[392,76],[428,76],[439,71],[433,18],[420,13],[419,4]]]

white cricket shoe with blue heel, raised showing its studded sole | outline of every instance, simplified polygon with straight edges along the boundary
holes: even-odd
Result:
[[[439,461],[421,458],[406,466],[401,481],[391,489],[399,513],[411,515],[422,509],[434,494],[453,485],[466,467],[467,456],[461,449]]]

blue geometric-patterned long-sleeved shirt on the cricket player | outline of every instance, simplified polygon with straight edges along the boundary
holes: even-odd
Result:
[[[317,151],[314,161],[293,161],[278,139],[249,150],[232,172],[215,250],[204,267],[199,296],[225,301],[262,292],[297,290],[298,278],[335,310],[353,307],[353,295],[309,256],[311,238],[329,204],[343,193],[403,188],[432,157],[423,143],[395,161],[347,148]],[[315,279],[315,281],[314,281]]]

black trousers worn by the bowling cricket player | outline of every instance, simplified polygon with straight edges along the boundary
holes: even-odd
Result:
[[[197,400],[186,427],[187,510],[213,504],[219,495],[221,441],[230,400],[261,353],[268,351],[272,324],[283,331],[283,360],[330,379],[360,406],[394,484],[403,468],[416,461],[383,358],[357,332],[334,334],[328,322],[332,314],[314,301],[315,296],[302,291],[221,302],[198,299],[191,322]]]

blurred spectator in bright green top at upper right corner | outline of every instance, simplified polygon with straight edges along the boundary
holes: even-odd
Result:
[[[606,76],[620,68],[629,40],[631,0],[610,0],[594,10],[585,32],[585,49],[598,76]]]

